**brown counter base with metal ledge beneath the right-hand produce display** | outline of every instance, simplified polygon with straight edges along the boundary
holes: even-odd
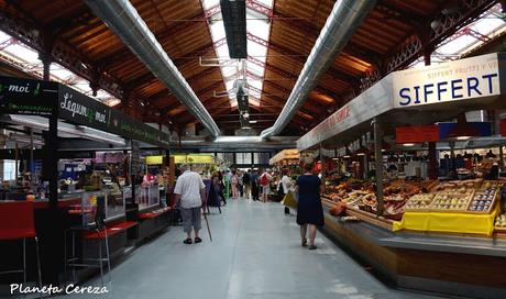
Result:
[[[399,288],[476,298],[505,298],[506,241],[494,237],[393,232],[389,221],[349,210],[343,222],[323,201],[323,232]],[[375,219],[374,219],[375,218]],[[373,220],[383,223],[377,225]]]

